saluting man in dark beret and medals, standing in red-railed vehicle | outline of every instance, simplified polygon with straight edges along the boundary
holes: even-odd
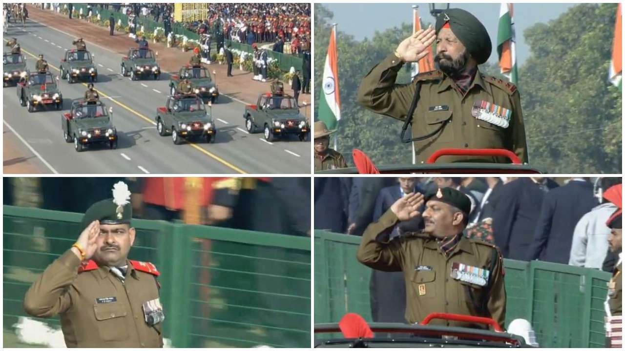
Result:
[[[421,214],[422,204],[425,210]],[[433,312],[488,317],[504,327],[506,290],[503,260],[494,245],[466,239],[462,230],[471,210],[456,189],[414,193],[391,205],[367,227],[357,259],[372,269],[404,272],[406,320],[421,322]],[[399,221],[422,215],[425,228],[389,240]],[[484,329],[484,325],[434,320],[433,324]]]

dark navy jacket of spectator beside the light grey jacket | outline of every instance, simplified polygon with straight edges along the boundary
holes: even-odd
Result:
[[[571,178],[563,187],[547,192],[527,260],[568,264],[575,225],[595,205],[597,200],[587,179]]]

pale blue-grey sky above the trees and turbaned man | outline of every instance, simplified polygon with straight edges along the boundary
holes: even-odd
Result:
[[[413,2],[403,4],[336,4],[324,3],[334,13],[332,22],[338,24],[339,31],[354,36],[356,40],[365,37],[371,38],[376,31],[399,26],[401,22],[412,22],[412,5],[419,6],[419,15],[424,22],[434,23],[434,17],[429,14],[427,2]],[[549,22],[556,19],[576,4],[544,3],[544,4],[514,4],[514,25],[517,41],[517,64],[520,66],[529,57],[529,46],[523,37],[523,31],[539,22]],[[497,61],[497,23],[499,21],[499,3],[489,4],[449,4],[450,8],[458,7],[471,12],[486,27],[492,41],[492,52],[489,61]]]

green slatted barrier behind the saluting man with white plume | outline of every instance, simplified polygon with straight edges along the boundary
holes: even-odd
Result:
[[[29,286],[80,232],[82,214],[3,207],[4,346],[29,317]],[[174,347],[310,346],[310,239],[133,220],[129,258],[161,272],[164,337]],[[31,317],[34,319],[33,317]],[[58,317],[37,319],[59,326]]]

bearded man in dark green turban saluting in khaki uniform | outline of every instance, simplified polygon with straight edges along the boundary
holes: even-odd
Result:
[[[396,84],[404,63],[417,62],[436,40],[438,71]],[[373,112],[410,119],[417,162],[443,148],[507,149],[527,162],[527,144],[516,86],[477,69],[491,54],[484,26],[467,11],[448,9],[432,28],[416,32],[377,64],[364,79],[358,101]],[[419,91],[417,91],[419,86]],[[416,94],[419,100],[411,116]],[[439,162],[501,162],[506,157],[445,156]]]

